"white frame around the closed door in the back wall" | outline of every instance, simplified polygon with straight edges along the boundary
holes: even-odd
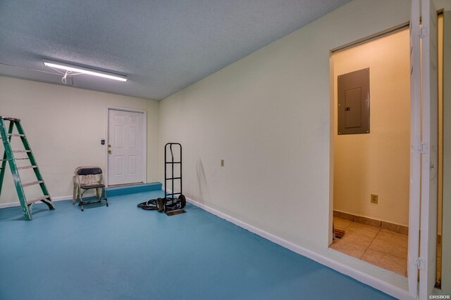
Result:
[[[143,183],[147,183],[147,110],[138,110],[136,108],[129,108],[129,107],[119,107],[119,106],[107,106],[106,110],[105,110],[105,172],[104,172],[104,181],[105,181],[105,185],[109,186],[109,182],[108,182],[108,168],[109,168],[109,164],[108,164],[108,159],[109,159],[109,155],[108,155],[108,145],[109,145],[109,111],[110,110],[121,110],[123,112],[138,112],[138,113],[142,113],[142,125],[143,125],[143,135],[144,135],[144,139],[143,139],[143,151],[144,151],[144,155],[142,157],[143,159],[143,163],[144,163],[144,174],[143,174],[143,178],[142,178],[142,182]]]

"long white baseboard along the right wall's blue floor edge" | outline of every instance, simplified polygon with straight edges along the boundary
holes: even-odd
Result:
[[[265,238],[266,240],[270,240],[271,242],[279,244],[282,247],[290,249],[292,252],[295,252],[302,256],[306,256],[309,259],[312,259],[318,263],[321,263],[324,266],[332,268],[333,270],[336,270],[344,275],[350,276],[351,278],[354,278],[355,280],[358,280],[366,285],[369,285],[375,289],[379,289],[382,292],[389,294],[390,296],[394,296],[397,299],[406,299],[406,300],[415,299],[415,297],[410,295],[409,292],[405,291],[404,289],[400,289],[399,287],[395,287],[394,285],[390,285],[388,282],[384,282],[382,280],[379,280],[378,278],[374,278],[371,275],[362,273],[361,271],[355,270],[354,268],[350,268],[349,266],[346,266],[343,263],[340,263],[326,256],[313,252],[309,249],[301,247],[298,244],[289,242],[288,240],[284,240],[283,238],[277,237],[276,235],[273,235],[248,223],[235,219],[233,216],[224,214],[221,211],[213,209],[205,204],[192,200],[188,197],[186,198],[186,200],[190,204],[193,204],[196,207],[199,207],[200,209],[204,209],[205,211],[208,211],[209,213],[214,214],[215,216],[218,216],[221,219],[225,219],[226,221],[229,221],[230,223],[233,223],[236,226],[240,226],[241,228],[249,230],[250,232],[255,233],[256,235]]]

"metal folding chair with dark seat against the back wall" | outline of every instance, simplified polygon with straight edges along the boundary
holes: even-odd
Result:
[[[99,180],[94,181],[94,182],[86,183],[86,182],[83,182],[82,179],[80,178],[81,176],[97,176],[97,175],[99,176]],[[104,181],[103,181],[102,171],[99,167],[85,167],[85,168],[78,169],[77,170],[77,188],[78,188],[77,195],[80,195],[80,202],[78,203],[78,205],[81,207],[82,211],[84,210],[83,205],[101,202],[101,200],[105,200],[106,206],[108,207],[108,199],[106,199],[106,192],[105,192],[105,185],[104,185]],[[85,192],[87,190],[91,190],[91,189],[96,189],[96,190],[101,189],[99,199],[83,201],[83,194],[85,194]]]

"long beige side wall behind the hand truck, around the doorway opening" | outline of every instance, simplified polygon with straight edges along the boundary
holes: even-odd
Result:
[[[330,49],[407,22],[409,8],[352,1],[163,100],[159,144],[183,143],[187,197],[407,289],[406,278],[328,249],[328,86]]]

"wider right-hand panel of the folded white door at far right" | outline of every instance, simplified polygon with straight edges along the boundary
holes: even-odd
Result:
[[[438,74],[437,11],[431,0],[421,1],[421,244],[420,299],[435,285],[437,245]],[[423,263],[424,262],[424,263]]]

